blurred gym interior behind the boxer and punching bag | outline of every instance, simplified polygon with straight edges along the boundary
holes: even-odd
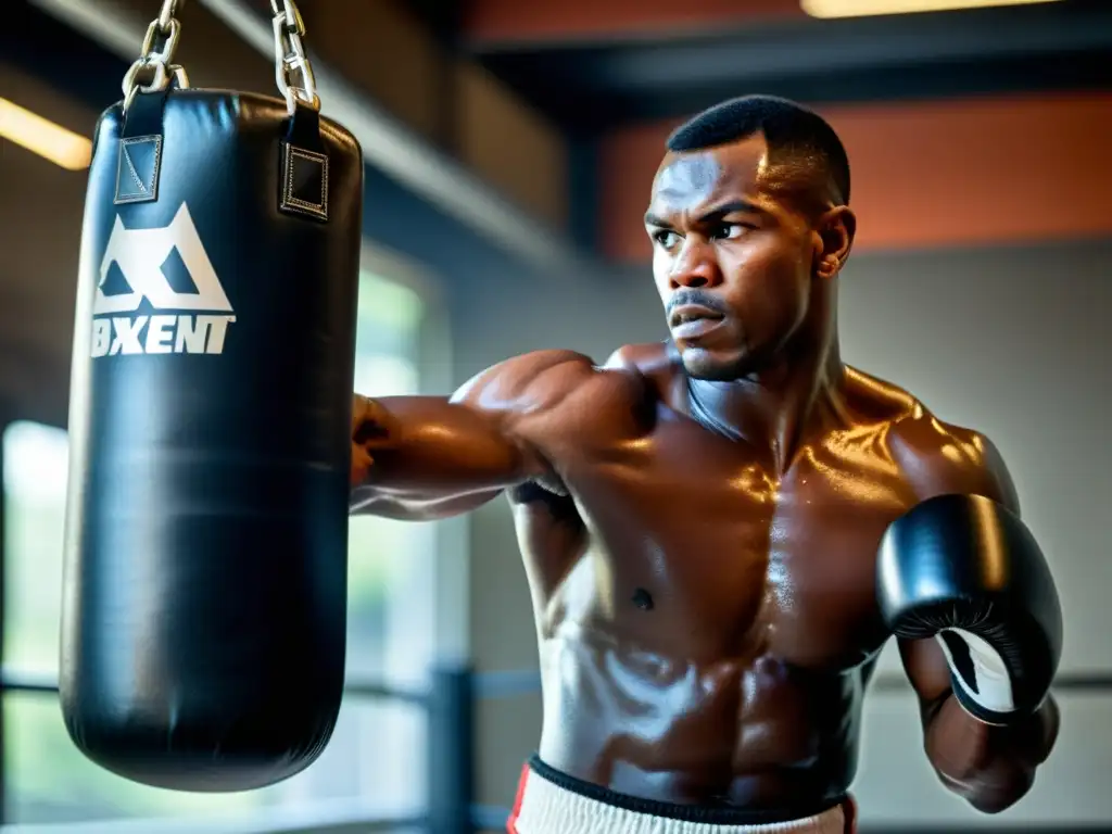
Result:
[[[830,119],[860,219],[842,277],[844,357],[995,440],[1066,615],[1058,749],[1029,797],[997,816],[939,785],[886,654],[854,785],[863,831],[1112,830],[1101,527],[1112,499],[1112,2],[298,4],[324,112],[366,157],[364,394],[447,393],[517,353],[602,360],[664,338],[641,217],[669,129],[751,92]],[[87,137],[159,6],[0,7],[2,822],[418,831],[406,821],[435,806],[436,831],[467,831],[444,810],[450,794],[457,811],[489,812],[477,827],[497,826],[539,727],[529,597],[502,503],[435,525],[351,523],[353,691],[304,774],[246,794],[177,794],[98,770],[66,735],[50,687]],[[193,86],[274,92],[267,0],[190,0],[179,19]],[[451,676],[445,689],[433,675],[446,662],[520,674],[436,712],[421,693],[450,694]],[[376,697],[384,686],[404,697]]]

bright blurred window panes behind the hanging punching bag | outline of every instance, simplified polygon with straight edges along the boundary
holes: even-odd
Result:
[[[416,393],[427,304],[408,286],[365,274],[356,390]],[[66,433],[14,423],[3,434],[6,669],[58,674]],[[423,683],[435,638],[435,525],[356,518],[350,526],[348,679]],[[400,702],[347,696],[331,743],[307,771],[278,785],[196,795],[137,785],[97,767],[72,745],[57,697],[3,693],[7,823],[232,815],[356,801],[384,816],[424,806],[425,716]]]

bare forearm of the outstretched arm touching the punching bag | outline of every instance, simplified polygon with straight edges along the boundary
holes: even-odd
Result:
[[[526,455],[489,414],[446,397],[384,397],[357,425],[354,453],[371,463],[353,485],[353,512],[394,517],[443,515],[441,505],[488,500],[519,483]]]

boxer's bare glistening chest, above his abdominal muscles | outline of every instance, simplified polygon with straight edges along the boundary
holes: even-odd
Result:
[[[538,602],[555,620],[695,662],[864,662],[884,637],[876,547],[910,503],[898,471],[850,435],[778,478],[754,458],[665,414],[649,437],[574,461],[563,475],[584,544]]]

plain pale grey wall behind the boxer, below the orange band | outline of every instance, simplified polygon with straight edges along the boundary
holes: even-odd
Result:
[[[846,361],[917,394],[940,417],[984,431],[1015,478],[1024,516],[1063,597],[1064,672],[1112,672],[1105,596],[1112,558],[1101,522],[1112,499],[1112,241],[1030,249],[858,255],[842,281]],[[476,288],[479,289],[479,288]],[[647,271],[573,276],[563,291],[505,284],[468,294],[457,354],[478,368],[554,345],[602,358],[663,335]],[[526,305],[528,305],[526,307]],[[459,367],[459,366],[457,366]],[[473,519],[471,645],[481,669],[536,665],[525,580],[502,504]],[[882,674],[898,674],[886,656]],[[1112,693],[1060,698],[1062,735],[1031,795],[982,816],[940,787],[910,695],[874,693],[854,790],[865,824],[1022,826],[1112,820]],[[539,699],[479,709],[480,798],[509,804],[536,744]]]

